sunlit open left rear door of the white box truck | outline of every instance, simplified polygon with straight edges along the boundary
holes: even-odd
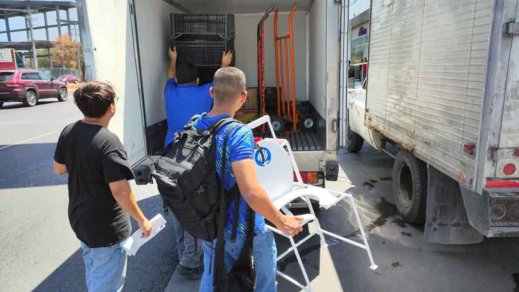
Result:
[[[146,150],[128,2],[106,5],[99,1],[78,1],[78,14],[81,37],[87,40],[84,42],[87,76],[113,85],[119,100],[109,128],[125,145],[133,165],[146,155]]]

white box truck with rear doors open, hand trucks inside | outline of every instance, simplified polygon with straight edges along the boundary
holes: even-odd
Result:
[[[110,129],[124,143],[134,169],[151,164],[166,134],[164,87],[171,44],[170,14],[234,14],[235,66],[247,86],[257,86],[257,24],[265,11],[279,9],[279,35],[288,33],[293,1],[78,0],[87,80],[106,80],[119,98]],[[294,15],[295,93],[311,105],[317,126],[291,139],[302,172],[316,172],[317,184],[337,180],[340,29],[345,6],[334,0],[303,0]],[[346,18],[347,19],[347,18]],[[275,87],[274,13],[265,22],[267,87]],[[345,30],[347,31],[347,30]],[[186,101],[189,102],[189,101]],[[310,138],[309,138],[310,137]]]

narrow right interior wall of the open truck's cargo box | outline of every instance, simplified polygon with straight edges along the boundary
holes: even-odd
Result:
[[[310,8],[309,100],[326,118],[326,1],[315,1]]]

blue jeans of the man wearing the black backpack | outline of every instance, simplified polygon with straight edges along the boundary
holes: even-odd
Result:
[[[230,239],[230,233],[225,232],[225,254],[224,261],[227,272],[233,267],[241,253],[241,248],[245,243],[245,237],[237,236],[236,241]],[[200,292],[213,292],[213,272],[214,272],[214,254],[216,248],[216,240],[212,242],[203,242],[203,275],[200,282]],[[276,292],[276,258],[278,251],[274,234],[272,232],[257,234],[253,243],[254,268],[256,272],[256,288],[255,292]],[[212,255],[212,267],[209,270],[209,263]]]

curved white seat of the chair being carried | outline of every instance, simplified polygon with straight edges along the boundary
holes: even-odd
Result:
[[[336,197],[323,188],[301,187],[301,185],[294,183],[294,188],[291,192],[288,192],[285,195],[278,197],[272,203],[274,203],[274,206],[276,206],[276,208],[281,209],[281,207],[289,204],[296,198],[302,196],[318,201],[319,206],[324,209],[330,208],[331,206],[337,204],[337,202],[343,200],[344,198],[344,196]]]

